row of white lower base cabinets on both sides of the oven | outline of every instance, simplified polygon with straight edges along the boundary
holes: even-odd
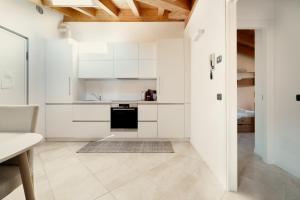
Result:
[[[107,115],[107,117],[103,118],[105,120],[92,121],[89,119],[85,121],[85,118],[74,120],[73,105],[47,105],[46,138],[61,138],[62,140],[64,138],[100,139],[112,134],[114,135],[113,138],[184,138],[184,105],[160,104],[157,108],[156,106],[154,107],[155,112],[157,109],[157,121],[156,118],[149,118],[146,115],[146,117],[144,117],[146,119],[145,121],[140,119],[141,121],[138,122],[137,131],[117,132],[111,131],[110,122],[105,121],[109,118],[109,112],[105,111],[105,109],[105,112],[102,112],[105,116]],[[142,110],[143,109],[141,109],[141,111]],[[82,117],[81,114],[79,116]],[[141,117],[142,116],[143,115],[141,115]],[[155,115],[151,114],[151,116]],[[151,121],[152,118],[153,120],[155,119],[155,121]]]

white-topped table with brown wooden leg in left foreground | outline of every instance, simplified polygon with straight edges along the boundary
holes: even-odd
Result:
[[[35,199],[27,152],[42,140],[36,133],[0,133],[0,163],[17,158],[27,200]]]

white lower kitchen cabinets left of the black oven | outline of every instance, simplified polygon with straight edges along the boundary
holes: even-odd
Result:
[[[75,109],[74,109],[75,106]],[[47,105],[46,138],[48,139],[94,139],[110,134],[109,112],[105,105]],[[95,111],[92,111],[95,109]],[[74,111],[75,110],[75,111]],[[91,116],[88,116],[88,112]],[[96,118],[96,113],[99,112]],[[77,116],[82,114],[81,117]],[[75,118],[74,118],[75,115]],[[78,119],[78,121],[73,121]],[[94,120],[96,119],[96,120]],[[100,119],[99,121],[97,121]],[[103,121],[102,121],[103,120]]]

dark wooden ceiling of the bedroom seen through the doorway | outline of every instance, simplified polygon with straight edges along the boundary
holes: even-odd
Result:
[[[237,32],[237,50],[238,53],[249,57],[255,55],[255,31],[238,30]]]

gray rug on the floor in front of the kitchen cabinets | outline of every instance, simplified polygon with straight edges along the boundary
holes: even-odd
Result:
[[[174,153],[170,141],[90,142],[77,153]]]

